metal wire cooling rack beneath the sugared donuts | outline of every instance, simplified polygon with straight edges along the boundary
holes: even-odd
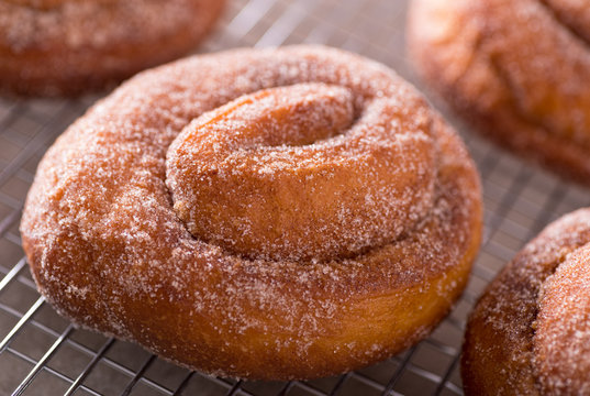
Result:
[[[323,43],[380,61],[413,80],[403,54],[405,1],[236,0],[200,51]],[[560,182],[463,132],[483,182],[485,237],[467,290],[425,341],[375,366],[309,382],[236,382],[166,363],[141,348],[77,329],[37,294],[19,237],[35,166],[98,97],[0,99],[0,395],[461,395],[458,356],[477,296],[522,245],[587,206]]]

